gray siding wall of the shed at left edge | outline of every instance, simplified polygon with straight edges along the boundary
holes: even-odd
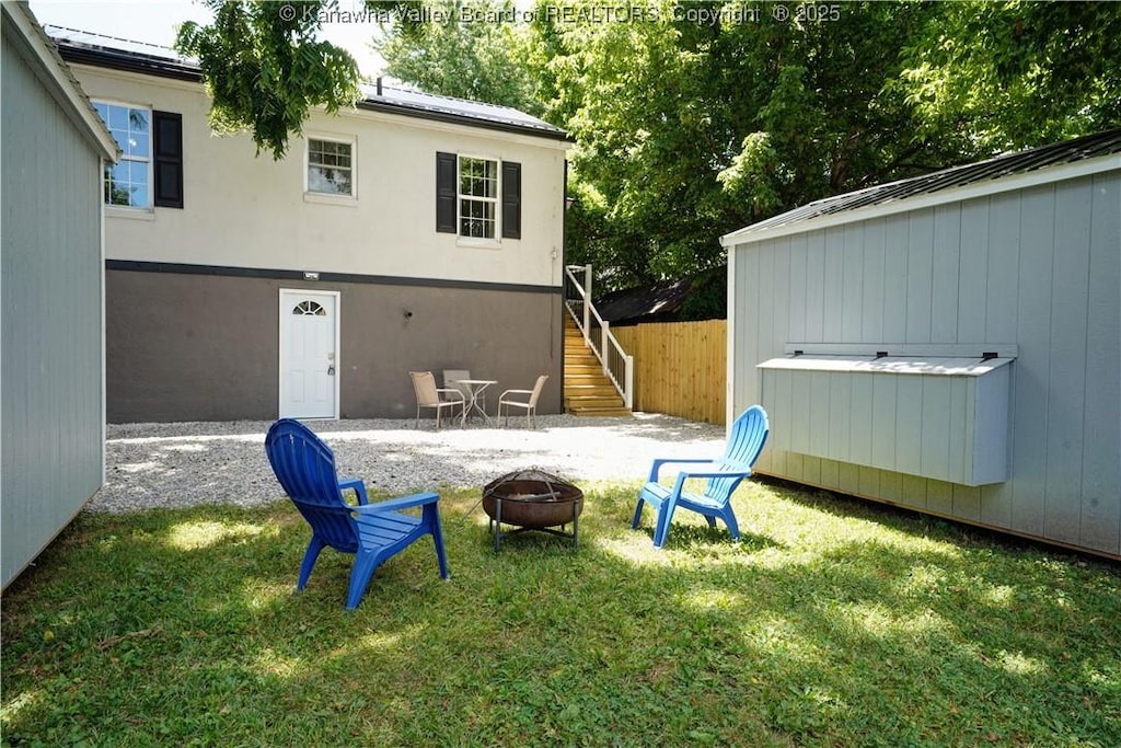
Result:
[[[3,33],[0,587],[101,487],[101,160]]]

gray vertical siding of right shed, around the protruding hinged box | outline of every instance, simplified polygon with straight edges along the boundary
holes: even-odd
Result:
[[[971,488],[782,449],[765,451],[761,472],[1121,554],[1121,172],[731,251],[736,409],[760,400],[756,366],[787,342],[1018,345],[1004,482]],[[814,376],[827,414],[833,388],[827,375]],[[897,423],[921,424],[921,398],[906,400]],[[808,437],[869,441],[831,434],[827,416]],[[907,449],[898,434],[870,438]]]

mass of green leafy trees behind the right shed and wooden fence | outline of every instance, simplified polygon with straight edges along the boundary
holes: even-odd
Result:
[[[571,259],[601,287],[717,267],[722,233],[814,200],[1121,123],[1121,4],[538,8],[573,156]],[[602,13],[600,15],[602,16]],[[714,292],[714,293],[719,293]]]

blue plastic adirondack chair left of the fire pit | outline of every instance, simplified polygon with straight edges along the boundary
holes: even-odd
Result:
[[[312,526],[312,542],[299,567],[297,590],[307,584],[315,560],[325,546],[353,553],[354,566],[346,593],[346,609],[353,610],[362,600],[374,570],[428,534],[436,543],[439,575],[447,579],[437,495],[416,493],[370,504],[362,480],[340,479],[331,447],[294,418],[281,418],[272,424],[265,437],[265,452],[280,486]],[[346,504],[344,491],[353,491],[358,504]],[[421,516],[401,514],[401,509],[411,507],[423,507]]]

